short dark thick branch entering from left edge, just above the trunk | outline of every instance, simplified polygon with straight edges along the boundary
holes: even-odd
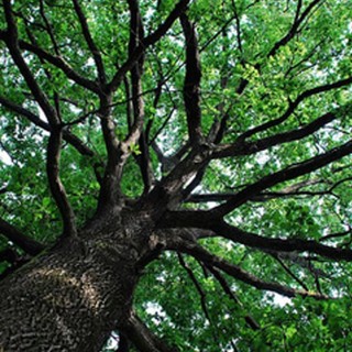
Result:
[[[43,244],[26,237],[3,219],[0,219],[0,233],[30,255],[36,255],[45,249]]]

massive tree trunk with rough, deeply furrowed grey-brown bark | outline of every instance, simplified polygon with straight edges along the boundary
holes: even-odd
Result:
[[[131,308],[147,245],[140,218],[114,222],[91,224],[2,283],[0,351],[101,349]]]

